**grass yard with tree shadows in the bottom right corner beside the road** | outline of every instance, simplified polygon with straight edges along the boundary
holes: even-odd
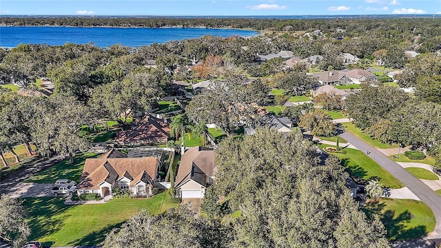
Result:
[[[382,198],[378,203],[365,205],[368,216],[379,214],[387,229],[389,240],[412,240],[435,229],[435,216],[425,203],[406,199]]]

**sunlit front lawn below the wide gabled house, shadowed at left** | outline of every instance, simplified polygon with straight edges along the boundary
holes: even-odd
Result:
[[[150,199],[118,198],[104,204],[64,205],[65,198],[25,198],[31,228],[29,240],[54,242],[52,246],[99,245],[112,229],[147,209],[158,214],[178,204],[170,203],[167,192]]]

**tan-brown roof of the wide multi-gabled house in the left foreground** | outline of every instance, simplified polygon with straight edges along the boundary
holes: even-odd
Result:
[[[106,181],[113,184],[115,180],[130,174],[133,181],[145,177],[156,178],[159,161],[155,157],[145,158],[87,158],[79,189],[99,189],[99,184]],[[132,181],[132,182],[133,182]],[[135,183],[137,183],[136,181]]]

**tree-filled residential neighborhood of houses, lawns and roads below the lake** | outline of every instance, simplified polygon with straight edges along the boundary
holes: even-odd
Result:
[[[278,21],[1,48],[0,247],[438,247],[439,37]]]

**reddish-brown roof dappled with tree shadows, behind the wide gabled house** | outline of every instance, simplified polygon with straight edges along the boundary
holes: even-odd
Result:
[[[116,142],[122,144],[167,143],[170,127],[161,119],[146,116],[133,123],[133,128],[116,134]]]

